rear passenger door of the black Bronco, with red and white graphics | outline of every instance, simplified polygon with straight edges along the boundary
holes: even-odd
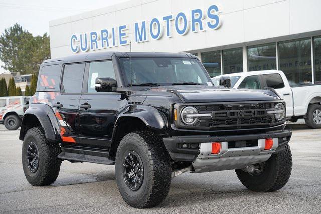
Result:
[[[66,144],[79,142],[79,100],[84,71],[85,63],[64,65],[60,94],[53,101],[61,126],[61,138]]]

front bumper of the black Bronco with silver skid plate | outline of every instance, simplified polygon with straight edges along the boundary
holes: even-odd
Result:
[[[291,135],[292,132],[282,130],[263,134],[214,137],[204,135],[165,137],[163,142],[173,160],[191,161],[195,172],[205,172],[242,168],[248,164],[264,162],[273,153],[282,151]],[[263,142],[267,138],[273,139],[273,150],[264,150]],[[250,140],[257,140],[257,145],[250,147],[237,145],[239,141]],[[219,154],[213,155],[209,152],[211,142],[221,142],[222,149]],[[235,148],[228,148],[228,142],[235,142]],[[183,148],[182,144],[186,144],[186,148]]]

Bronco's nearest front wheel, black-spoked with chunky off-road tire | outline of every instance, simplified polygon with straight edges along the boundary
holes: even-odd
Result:
[[[119,192],[132,207],[156,206],[169,192],[170,156],[162,140],[150,131],[124,136],[117,148],[115,169]]]

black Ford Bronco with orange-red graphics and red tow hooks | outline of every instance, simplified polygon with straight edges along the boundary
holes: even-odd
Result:
[[[292,167],[285,115],[273,89],[215,87],[188,53],[50,59],[22,120],[23,169],[43,186],[64,160],[115,164],[121,196],[138,208],[161,203],[184,172],[235,169],[248,189],[276,191]]]

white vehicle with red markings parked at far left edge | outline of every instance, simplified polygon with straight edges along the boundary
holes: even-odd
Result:
[[[21,118],[29,107],[29,98],[24,96],[0,97],[0,123],[8,130],[20,127]]]

